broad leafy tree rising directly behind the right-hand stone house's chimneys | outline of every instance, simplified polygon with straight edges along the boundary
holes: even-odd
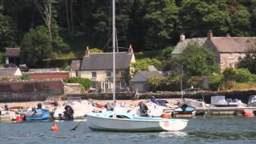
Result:
[[[214,34],[225,34],[230,30],[227,8],[226,0],[184,0],[179,12],[181,29],[190,37],[205,36],[207,30],[214,30]]]

